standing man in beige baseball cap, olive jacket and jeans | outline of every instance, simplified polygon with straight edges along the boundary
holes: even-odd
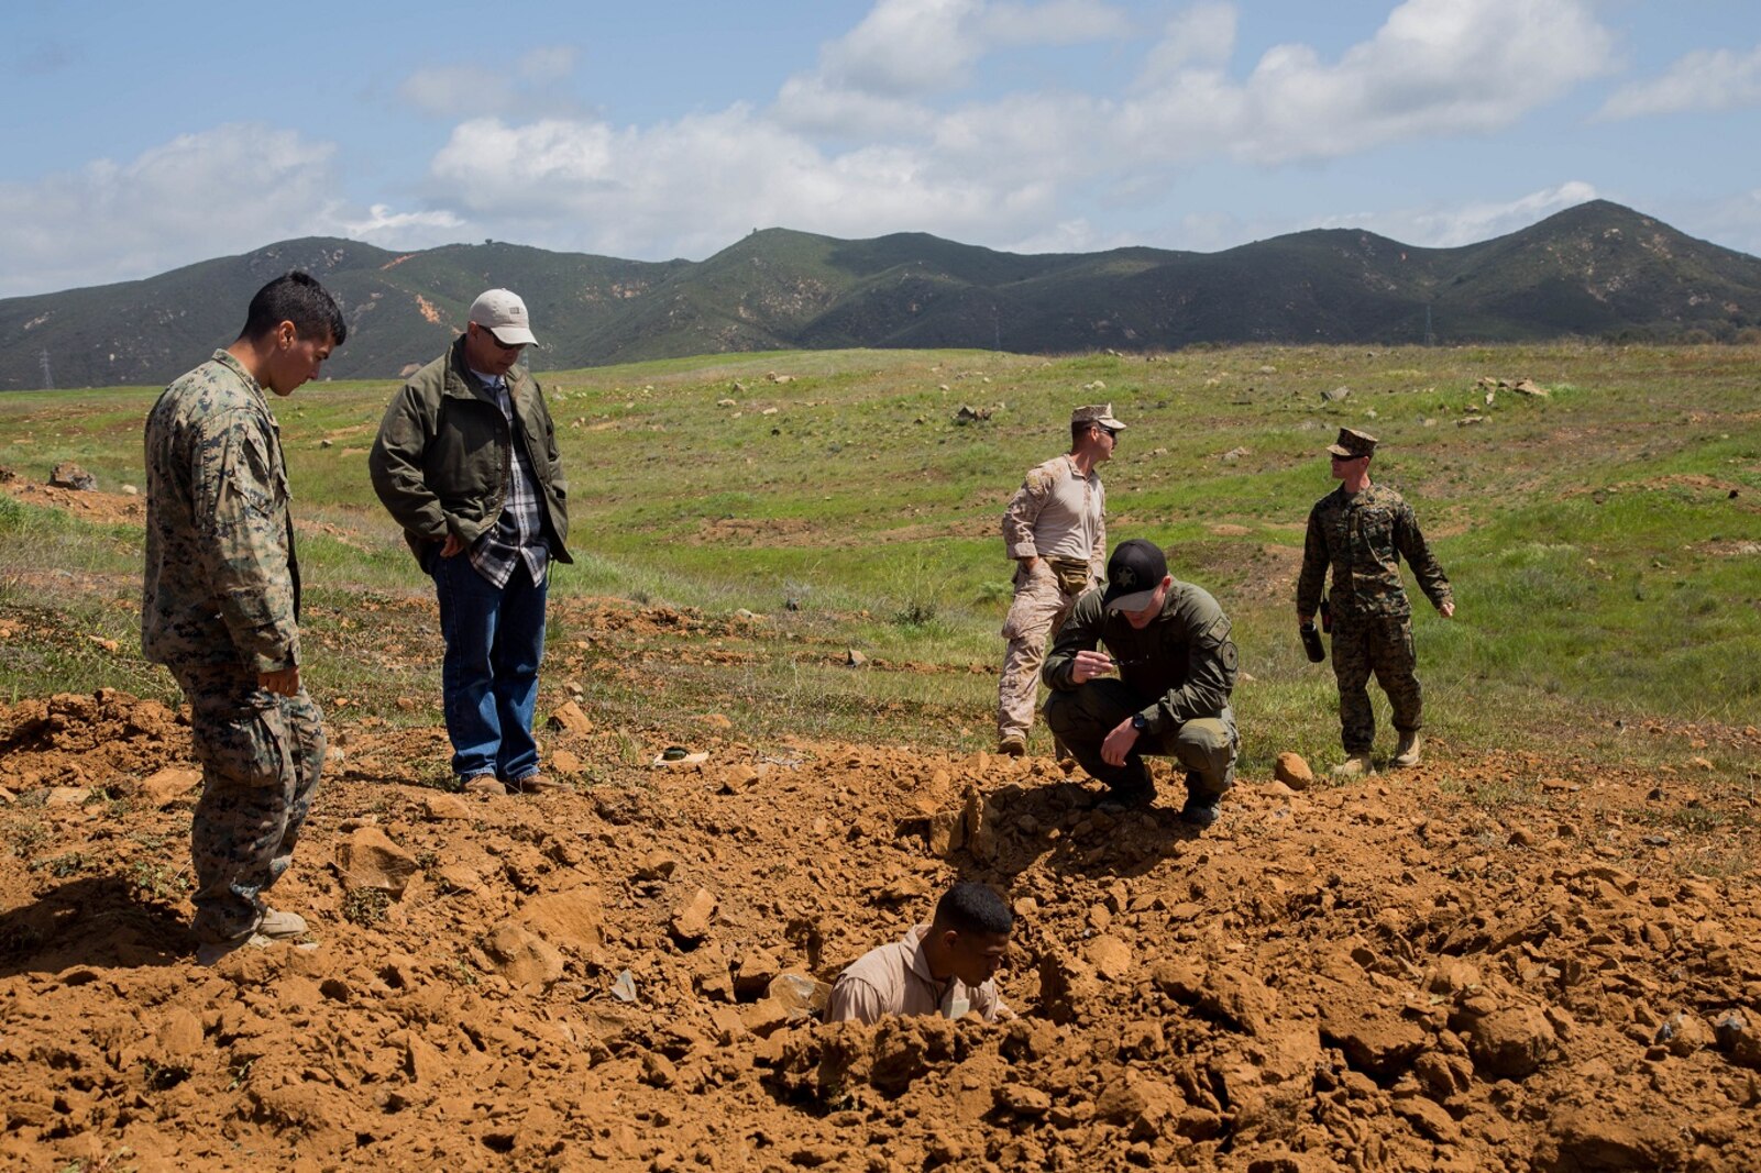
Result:
[[[521,366],[527,303],[490,289],[446,354],[410,375],[368,454],[373,490],[440,601],[453,775],[474,794],[553,789],[532,715],[549,564],[569,562],[569,481],[544,393]]]

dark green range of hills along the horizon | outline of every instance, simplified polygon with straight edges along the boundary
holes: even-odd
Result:
[[[238,333],[303,268],[349,315],[336,379],[438,354],[490,285],[525,296],[541,370],[775,349],[1028,354],[1205,342],[1731,340],[1761,328],[1761,259],[1606,201],[1462,248],[1317,229],[1215,254],[1018,255],[923,232],[752,232],[708,261],[620,261],[484,241],[393,254],[299,240],[120,285],[0,299],[0,389],[158,384]],[[1747,335],[1745,335],[1747,336]]]

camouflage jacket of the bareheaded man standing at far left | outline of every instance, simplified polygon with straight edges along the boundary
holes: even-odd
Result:
[[[299,664],[299,562],[282,433],[225,350],[146,417],[141,650],[160,664],[227,655],[255,673]]]

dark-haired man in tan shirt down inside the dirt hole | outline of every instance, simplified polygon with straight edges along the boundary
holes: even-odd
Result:
[[[928,925],[914,925],[903,939],[870,949],[838,974],[826,1022],[1014,1018],[995,985],[1013,932],[1014,914],[1002,896],[984,884],[954,884],[937,900]]]

